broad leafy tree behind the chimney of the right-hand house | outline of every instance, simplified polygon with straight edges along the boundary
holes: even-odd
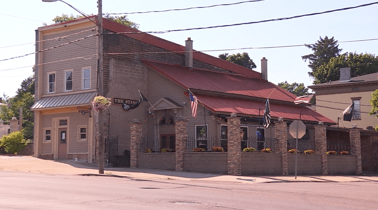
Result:
[[[344,53],[331,58],[327,63],[312,72],[314,84],[340,79],[340,68],[350,67],[350,76],[361,76],[375,73],[378,70],[378,56],[370,53]]]

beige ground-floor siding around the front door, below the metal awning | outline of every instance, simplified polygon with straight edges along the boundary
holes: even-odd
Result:
[[[59,113],[59,114],[46,114],[42,117],[42,126],[43,128],[53,127],[53,118],[59,119],[67,119],[68,121],[68,148],[67,153],[87,153],[88,152],[88,143],[91,140],[91,136],[89,135],[90,125],[89,125],[89,115],[85,114],[82,115],[80,112],[67,112],[67,113]],[[80,141],[79,140],[79,130],[78,126],[87,126],[87,140]],[[59,128],[64,128],[64,126],[59,126]],[[43,136],[43,135],[42,135]],[[53,145],[53,138],[56,138],[55,135],[51,135],[51,142],[52,143],[42,143],[42,154],[51,154],[52,153],[52,145]],[[50,152],[50,153],[49,153]]]

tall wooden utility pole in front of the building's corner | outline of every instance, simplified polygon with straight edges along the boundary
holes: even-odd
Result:
[[[97,76],[98,76],[98,95],[104,95],[104,86],[103,86],[103,69],[102,69],[102,59],[103,59],[103,47],[102,47],[102,0],[98,0],[98,33],[97,42],[98,42],[98,67],[97,67]],[[105,150],[105,140],[104,140],[104,111],[99,110],[98,112],[98,129],[99,129],[99,158],[98,158],[98,173],[104,173],[104,150]]]

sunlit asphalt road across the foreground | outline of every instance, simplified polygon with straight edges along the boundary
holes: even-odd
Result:
[[[369,210],[378,182],[221,181],[0,171],[1,210]]]

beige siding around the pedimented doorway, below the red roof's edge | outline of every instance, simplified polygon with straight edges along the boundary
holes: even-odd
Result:
[[[161,76],[159,73],[154,70],[149,70],[149,90],[150,95],[147,98],[151,104],[155,103],[162,96],[174,100],[176,103],[182,106],[183,102],[186,103],[186,106],[183,106],[182,116],[187,117],[192,115],[192,108],[190,104],[189,97],[184,95],[184,92],[187,92],[181,86],[178,86],[169,79]],[[208,109],[206,109],[208,111]],[[195,136],[195,125],[203,125],[204,115],[203,115],[203,106],[198,103],[197,106],[197,118],[188,117],[188,136]],[[208,125],[208,135],[212,135],[212,117],[206,112],[206,124]],[[149,129],[149,135],[153,135],[153,129]]]

